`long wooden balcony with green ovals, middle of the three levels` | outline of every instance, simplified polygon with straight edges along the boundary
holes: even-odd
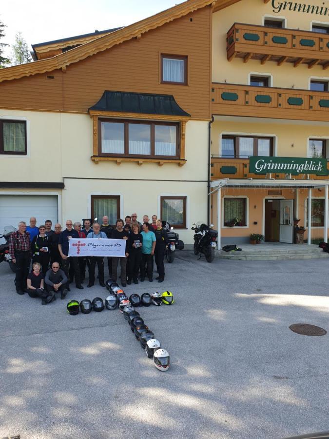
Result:
[[[329,92],[212,84],[212,114],[291,120],[329,120]]]

